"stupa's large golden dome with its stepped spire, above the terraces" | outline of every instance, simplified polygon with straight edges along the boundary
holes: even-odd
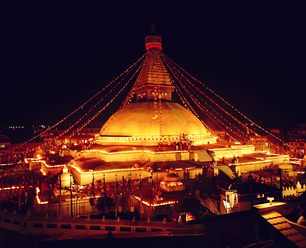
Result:
[[[193,145],[216,142],[203,123],[183,106],[171,101],[173,82],[162,61],[162,38],[152,23],[145,38],[147,58],[136,80],[136,103],[125,105],[103,125],[97,143],[157,146],[185,140]]]

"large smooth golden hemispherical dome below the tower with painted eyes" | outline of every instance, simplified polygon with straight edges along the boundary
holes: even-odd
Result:
[[[161,102],[161,111],[159,111],[159,102],[157,102],[158,114],[153,108],[154,102],[136,102],[124,106],[103,125],[101,136],[207,134],[202,122],[177,103]]]

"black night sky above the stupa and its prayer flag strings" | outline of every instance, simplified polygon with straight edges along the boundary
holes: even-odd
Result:
[[[196,2],[2,1],[0,127],[57,123],[144,55],[152,19],[162,52],[251,120],[304,122],[304,1]]]

